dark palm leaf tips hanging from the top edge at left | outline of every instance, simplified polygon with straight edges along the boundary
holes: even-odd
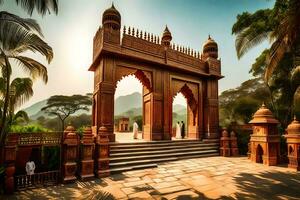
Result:
[[[45,15],[47,12],[51,13],[51,11],[57,14],[58,12],[58,0],[15,0],[18,5],[27,11],[27,13],[31,16],[33,10],[41,14]],[[0,4],[2,4],[4,0],[0,0]]]

